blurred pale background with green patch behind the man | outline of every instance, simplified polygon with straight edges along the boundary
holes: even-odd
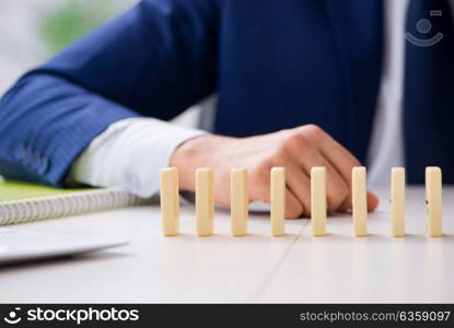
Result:
[[[0,97],[25,71],[138,1],[0,0]],[[174,122],[199,126],[200,108],[211,108],[213,101],[189,108]],[[209,119],[202,124],[207,128]]]

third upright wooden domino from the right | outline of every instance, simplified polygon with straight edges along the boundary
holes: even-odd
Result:
[[[368,188],[365,167],[357,166],[351,172],[352,215],[356,237],[368,235]]]

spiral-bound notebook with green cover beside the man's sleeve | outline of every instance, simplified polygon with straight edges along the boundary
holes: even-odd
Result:
[[[144,201],[119,188],[58,189],[0,177],[0,225],[105,211]]]

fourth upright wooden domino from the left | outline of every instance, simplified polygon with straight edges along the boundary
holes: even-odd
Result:
[[[271,235],[284,234],[286,168],[272,167],[270,173]]]

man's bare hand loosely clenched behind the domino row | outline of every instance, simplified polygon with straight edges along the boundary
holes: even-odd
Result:
[[[327,169],[328,210],[351,208],[351,169],[360,162],[319,127],[301,126],[275,133],[231,138],[202,136],[183,143],[173,154],[171,165],[179,171],[182,190],[195,190],[195,172],[199,167],[214,171],[214,201],[230,206],[231,168],[248,169],[249,201],[269,202],[269,173],[273,166],[286,167],[286,216],[311,214],[311,168]],[[379,204],[368,191],[368,208]]]

